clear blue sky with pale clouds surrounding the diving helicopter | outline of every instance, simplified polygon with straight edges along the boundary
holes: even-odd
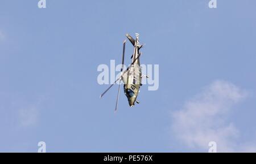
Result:
[[[255,152],[256,2],[208,2],[1,1],[0,152]],[[159,89],[114,114],[97,67],[136,32]]]

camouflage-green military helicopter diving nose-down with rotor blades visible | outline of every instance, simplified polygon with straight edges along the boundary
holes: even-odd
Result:
[[[136,36],[136,39],[134,40],[133,37],[131,37],[129,34],[126,34],[126,37],[129,39],[131,44],[134,46],[133,55],[131,55],[132,60],[131,60],[130,66],[125,71],[123,71],[123,63],[124,63],[124,58],[125,58],[125,44],[126,44],[126,40],[125,40],[125,41],[123,41],[121,75],[117,80],[115,80],[115,82],[112,85],[110,85],[110,87],[108,89],[105,90],[105,92],[103,92],[100,95],[100,98],[102,96],[104,96],[104,94],[106,92],[108,92],[108,90],[111,87],[113,87],[113,85],[115,83],[117,83],[117,81],[119,81],[117,102],[115,103],[115,112],[117,111],[117,107],[118,107],[118,99],[119,99],[119,93],[120,93],[121,80],[123,81],[123,90],[128,99],[130,107],[134,106],[135,102],[139,103],[139,101],[137,101],[137,96],[139,94],[139,88],[142,86],[142,83],[141,83],[142,77],[145,76],[145,75],[142,75],[142,71],[141,71],[141,67],[140,67],[140,63],[139,63],[139,57],[142,54],[139,50],[144,45],[139,44],[139,34],[135,33],[135,36]],[[148,76],[146,76],[146,77],[148,78]]]

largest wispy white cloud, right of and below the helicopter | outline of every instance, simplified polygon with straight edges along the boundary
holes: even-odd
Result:
[[[237,144],[240,131],[228,122],[232,107],[246,95],[232,83],[214,81],[172,113],[172,131],[181,143],[203,151],[209,149],[210,141],[217,143],[218,152],[255,150],[251,144]]]

